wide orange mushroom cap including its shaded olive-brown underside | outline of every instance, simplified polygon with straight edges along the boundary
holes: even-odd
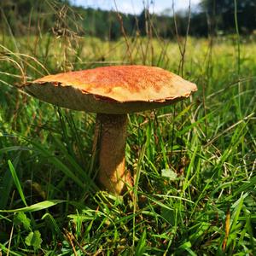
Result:
[[[112,66],[45,76],[23,89],[44,102],[94,113],[160,108],[197,90],[160,67]]]

